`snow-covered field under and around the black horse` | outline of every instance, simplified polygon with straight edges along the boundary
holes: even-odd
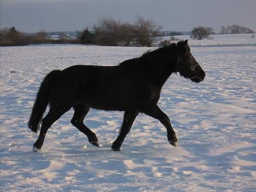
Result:
[[[91,109],[85,124],[100,148],[69,123],[70,110],[49,129],[42,152],[33,153],[38,135],[27,121],[34,98],[53,69],[117,65],[153,48],[0,47],[0,191],[255,191],[256,38],[250,36],[189,40],[206,79],[195,84],[172,74],[159,101],[179,146],[168,143],[157,120],[139,114],[121,152],[110,146],[123,112]]]

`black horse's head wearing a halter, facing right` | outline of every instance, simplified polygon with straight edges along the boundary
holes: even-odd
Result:
[[[177,57],[176,70],[179,74],[196,83],[201,82],[205,78],[205,72],[190,53],[188,40],[177,43]]]

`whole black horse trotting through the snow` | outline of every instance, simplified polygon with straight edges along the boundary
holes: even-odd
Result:
[[[190,53],[188,40],[149,51],[118,66],[77,65],[50,72],[40,85],[28,122],[28,127],[37,132],[42,121],[34,150],[43,146],[47,130],[72,107],[71,123],[94,146],[99,147],[98,139],[83,123],[90,108],[125,111],[119,136],[112,145],[115,151],[120,150],[138,113],[158,119],[166,127],[168,141],[177,146],[170,120],[157,105],[162,85],[173,72],[196,83],[205,78],[205,72]],[[43,118],[48,103],[50,109]]]

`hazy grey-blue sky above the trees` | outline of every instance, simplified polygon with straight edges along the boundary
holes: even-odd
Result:
[[[256,0],[0,0],[0,28],[22,32],[80,31],[102,17],[134,22],[136,15],[171,31],[232,24],[256,31]]]

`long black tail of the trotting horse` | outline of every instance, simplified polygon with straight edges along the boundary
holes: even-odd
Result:
[[[38,126],[42,121],[43,114],[49,103],[51,86],[53,85],[57,74],[59,74],[60,72],[61,71],[59,70],[54,70],[50,72],[48,75],[46,75],[40,85],[36,101],[34,102],[30,120],[28,121],[28,128],[30,128],[33,132],[37,132],[38,130]]]

